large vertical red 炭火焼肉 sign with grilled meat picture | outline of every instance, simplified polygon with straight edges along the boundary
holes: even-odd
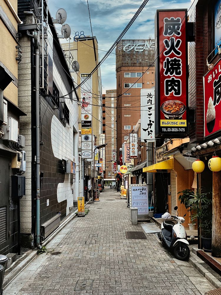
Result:
[[[155,17],[156,137],[188,135],[187,10],[157,10]]]

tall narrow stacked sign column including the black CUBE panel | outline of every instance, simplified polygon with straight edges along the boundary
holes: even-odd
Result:
[[[81,157],[92,160],[92,77],[81,74]]]

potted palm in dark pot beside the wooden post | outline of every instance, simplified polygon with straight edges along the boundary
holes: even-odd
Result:
[[[202,229],[202,243],[205,251],[212,248],[212,192],[195,192],[190,195],[189,207],[195,212],[192,220],[198,218],[199,227]]]

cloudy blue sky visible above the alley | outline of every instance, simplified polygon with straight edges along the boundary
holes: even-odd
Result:
[[[189,8],[193,1],[149,0],[123,39],[154,37],[156,9]],[[98,40],[100,59],[116,41],[142,2],[142,0],[88,0],[93,35]],[[74,37],[77,31],[84,31],[85,35],[91,35],[87,0],[48,0],[48,5],[51,14],[54,16],[59,8],[64,8],[67,11],[66,23],[71,27],[71,37]],[[115,50],[101,65],[103,93],[106,89],[116,89],[114,53]]]

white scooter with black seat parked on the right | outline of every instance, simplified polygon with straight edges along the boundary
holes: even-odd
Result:
[[[174,210],[177,211],[178,207],[174,207]],[[186,214],[184,215],[184,217]],[[177,224],[170,220],[165,220],[161,224],[161,232],[158,232],[158,237],[161,240],[162,244],[173,249],[174,255],[179,260],[186,260],[189,258],[189,242],[187,241],[187,233],[185,231],[182,223],[185,222],[183,217],[171,216],[176,221]]]

